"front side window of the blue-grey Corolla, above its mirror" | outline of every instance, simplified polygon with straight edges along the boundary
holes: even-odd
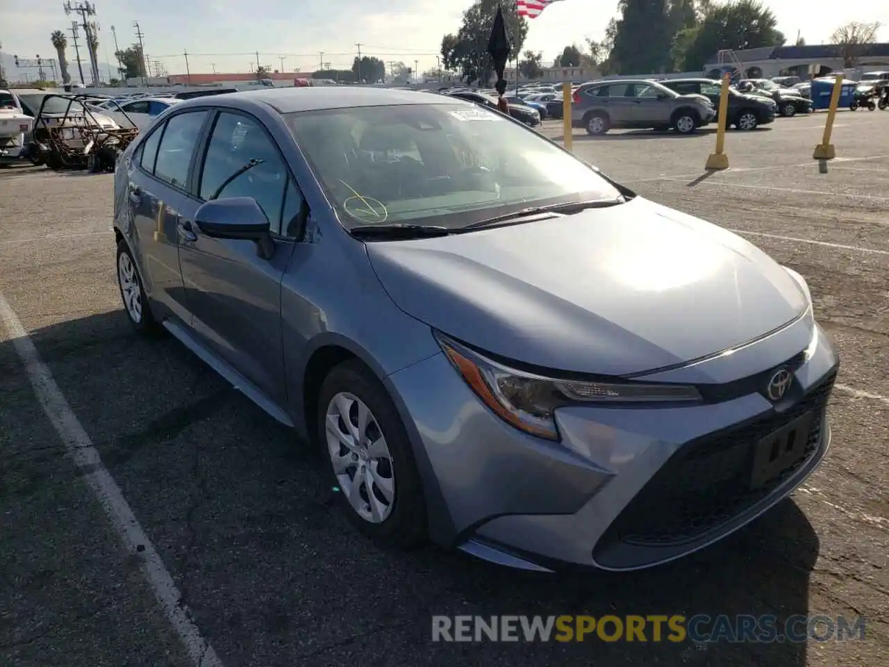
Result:
[[[257,164],[238,173],[252,161]],[[284,158],[257,121],[238,114],[220,113],[204,157],[202,199],[206,201],[214,195],[253,197],[266,214],[271,230],[281,234],[284,188],[289,181]],[[284,225],[289,222],[284,221]]]

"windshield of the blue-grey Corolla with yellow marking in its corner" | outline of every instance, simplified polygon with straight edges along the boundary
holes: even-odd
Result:
[[[524,125],[468,104],[285,114],[347,227],[457,229],[531,206],[615,200],[588,165]]]

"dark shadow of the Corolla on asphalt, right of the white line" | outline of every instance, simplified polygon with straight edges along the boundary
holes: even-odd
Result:
[[[660,641],[651,630],[632,642],[595,632],[564,644],[432,641],[432,615],[772,615],[781,628],[809,614],[819,550],[792,501],[706,550],[628,574],[539,575],[431,546],[380,550],[336,507],[313,448],[172,337],[140,338],[122,310],[31,337],[224,663],[342,664],[359,651],[412,667],[806,664],[805,643],[673,642],[666,629]],[[0,358],[15,358],[10,342]],[[7,390],[24,395],[24,384]]]

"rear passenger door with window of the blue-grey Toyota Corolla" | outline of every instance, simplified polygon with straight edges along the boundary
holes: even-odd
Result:
[[[188,172],[195,161],[206,110],[170,117],[154,127],[133,154],[127,177],[130,218],[136,226],[134,248],[156,316],[191,316],[179,269],[178,227],[186,200]]]

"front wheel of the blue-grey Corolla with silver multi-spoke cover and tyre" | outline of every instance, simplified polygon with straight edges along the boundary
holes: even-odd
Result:
[[[336,366],[321,386],[317,424],[325,467],[349,521],[381,546],[424,542],[420,473],[382,383],[357,361]]]

